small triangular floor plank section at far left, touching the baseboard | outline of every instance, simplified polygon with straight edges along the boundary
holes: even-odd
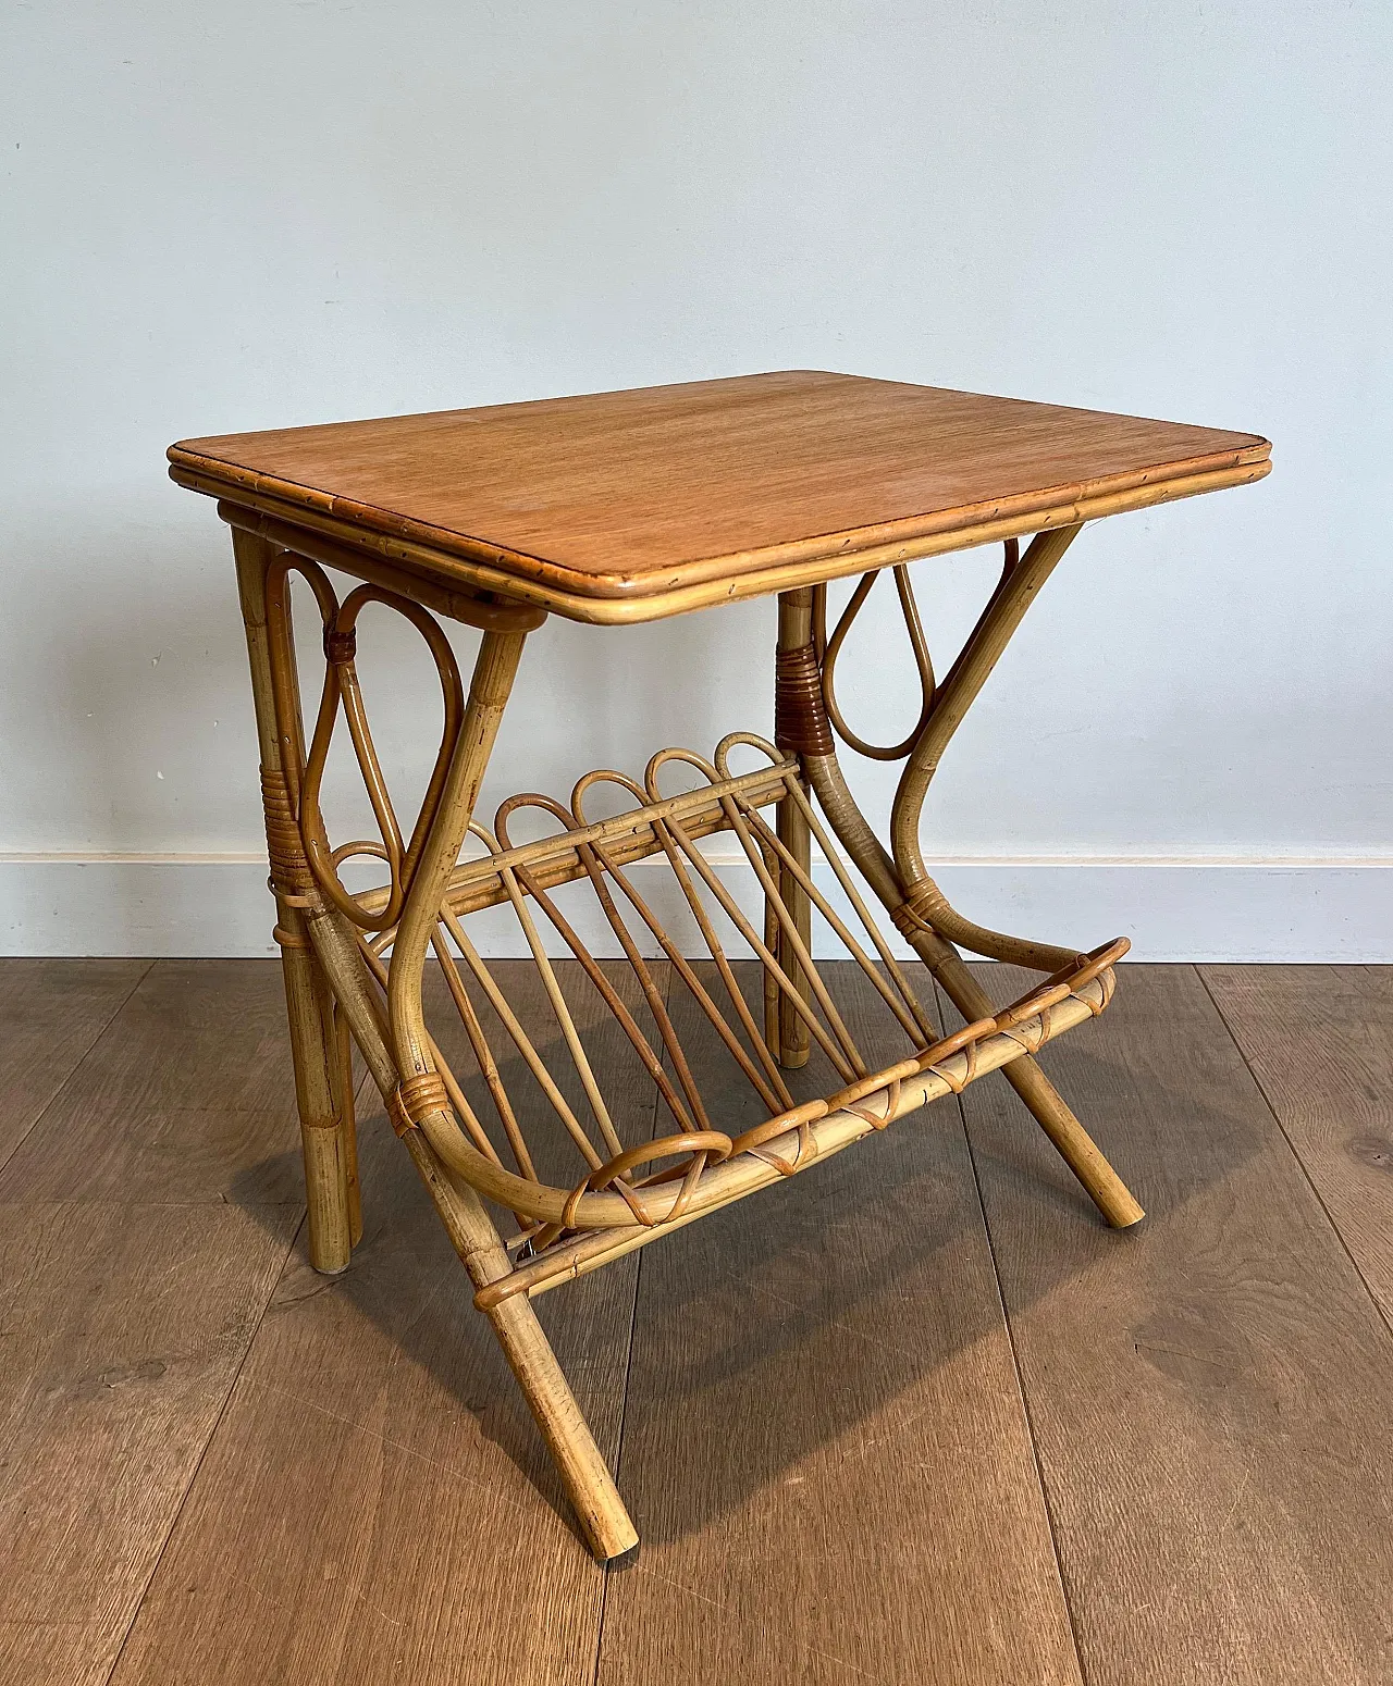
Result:
[[[0,964],[0,1165],[148,969],[147,959]]]

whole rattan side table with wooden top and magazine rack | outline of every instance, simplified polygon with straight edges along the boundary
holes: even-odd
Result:
[[[310,1259],[341,1271],[361,1234],[356,1044],[595,1556],[632,1549],[637,1534],[533,1313],[535,1295],[815,1167],[997,1069],[1103,1217],[1116,1227],[1142,1217],[1034,1059],[1047,1040],[1105,1010],[1127,941],[1079,953],[973,924],[928,875],[919,816],[949,738],[1081,526],[1258,481],[1268,457],[1268,443],[1250,433],[816,371],[170,448],[172,477],[218,497],[233,529]],[[1024,553],[1022,534],[1034,534]],[[990,543],[1003,545],[1000,580],[936,678],[907,563]],[[892,570],[922,693],[917,725],[894,745],[857,737],[835,690],[847,631],[884,568]],[[346,595],[331,572],[356,582]],[[826,582],[857,573],[862,580],[828,631]],[[292,575],[307,582],[324,629],[309,733]],[[492,826],[481,824],[476,797],[523,644],[548,614],[616,626],[762,593],[779,597],[772,742],[734,733],[708,757],[661,749],[637,777],[589,772],[565,801],[521,794],[498,809]],[[415,626],[440,676],[444,733],[410,836],[388,794],[354,664],[358,619],[369,604]],[[482,632],[467,686],[440,617]],[[320,813],[339,717],[378,823],[369,841],[331,843]],[[889,846],[852,801],[838,737],[860,754],[904,762]],[[619,811],[599,818],[616,799]],[[509,823],[524,809],[531,830],[538,814],[551,830],[513,841]],[[700,841],[712,833],[727,833],[749,862],[762,919],[750,917],[707,860]],[[815,846],[826,862],[821,885]],[[378,862],[378,887],[349,890],[341,875],[349,858]],[[637,862],[671,875],[673,905],[690,914],[707,964],[683,953],[653,895],[639,890],[629,872]],[[572,883],[594,895],[627,958],[639,1013],[560,905],[555,892]],[[911,976],[917,968],[896,961],[874,902],[953,1000],[963,1030],[938,1035]],[[536,961],[570,1062],[570,1098],[471,937],[482,909],[509,910],[519,946]],[[902,1042],[894,1064],[872,1069],[838,1013],[813,961],[815,910],[874,986]],[[548,931],[550,946],[575,956],[585,986],[619,1022],[636,1071],[658,1091],[668,1133],[621,1140],[573,1001],[548,959]],[[960,949],[1032,968],[1042,981],[995,1007]],[[712,1116],[654,980],[654,956],[749,1086],[757,1123],[737,1128]],[[462,1020],[469,1071],[450,1069],[427,1023],[430,959]],[[757,963],[762,998],[745,998],[735,959]],[[523,1104],[509,1091],[501,1054],[503,1064],[526,1069],[545,1104]],[[825,1093],[796,1103],[786,1074],[809,1062],[825,1074]],[[543,1175],[538,1165],[555,1165],[558,1146],[570,1168]]]

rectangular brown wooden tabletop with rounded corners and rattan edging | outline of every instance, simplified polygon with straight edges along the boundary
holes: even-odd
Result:
[[[1261,479],[1256,433],[793,369],[191,438],[170,474],[440,583],[651,620]]]

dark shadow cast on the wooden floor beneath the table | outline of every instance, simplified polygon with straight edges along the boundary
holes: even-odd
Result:
[[[1140,971],[1132,968],[1132,978]],[[1127,981],[1108,1018],[1074,1034],[1066,1093],[1135,1093],[1125,1054]],[[1000,1077],[983,1082],[1003,1087]],[[1147,1072],[1145,1084],[1148,1114],[1194,1113],[1192,1084],[1167,1086],[1164,1072]],[[381,1345],[467,1409],[570,1524],[541,1438],[408,1157],[379,1106],[364,1103],[363,1113],[364,1238],[352,1266],[334,1281],[315,1276],[302,1231],[268,1324],[320,1293],[347,1302],[379,1330]],[[1020,1170],[1007,1167],[1014,1197],[1034,1211],[1032,1229],[1056,1238],[1034,1249],[1034,1302],[1113,1261],[1120,1248],[1145,1244],[1147,1226],[1108,1231],[1062,1162],[1041,1158],[1035,1126],[1014,1101],[1012,1116],[1020,1130]],[[1108,1118],[1086,1123],[1108,1152]],[[1197,1123],[1218,1145],[1204,1185],[1226,1180],[1256,1152],[1251,1114],[1231,1116],[1218,1098]],[[1127,1177],[1125,1155],[1118,1160]],[[248,1195],[265,1180],[265,1165],[239,1179]],[[1155,1229],[1174,1211],[1172,1199],[1199,1189],[1138,1192]],[[246,1205],[255,1211],[255,1199]],[[857,1455],[865,1425],[1002,1327],[958,1104],[939,1101],[543,1297],[536,1310],[612,1467],[621,1462],[624,1416],[619,1480],[648,1539],[703,1529],[821,1447],[845,1443]],[[702,1455],[685,1457],[698,1440]],[[713,1450],[723,1442],[737,1448],[729,1457]]]

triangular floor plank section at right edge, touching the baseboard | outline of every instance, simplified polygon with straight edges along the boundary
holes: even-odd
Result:
[[[1393,969],[1201,966],[1201,976],[1393,1322]]]

